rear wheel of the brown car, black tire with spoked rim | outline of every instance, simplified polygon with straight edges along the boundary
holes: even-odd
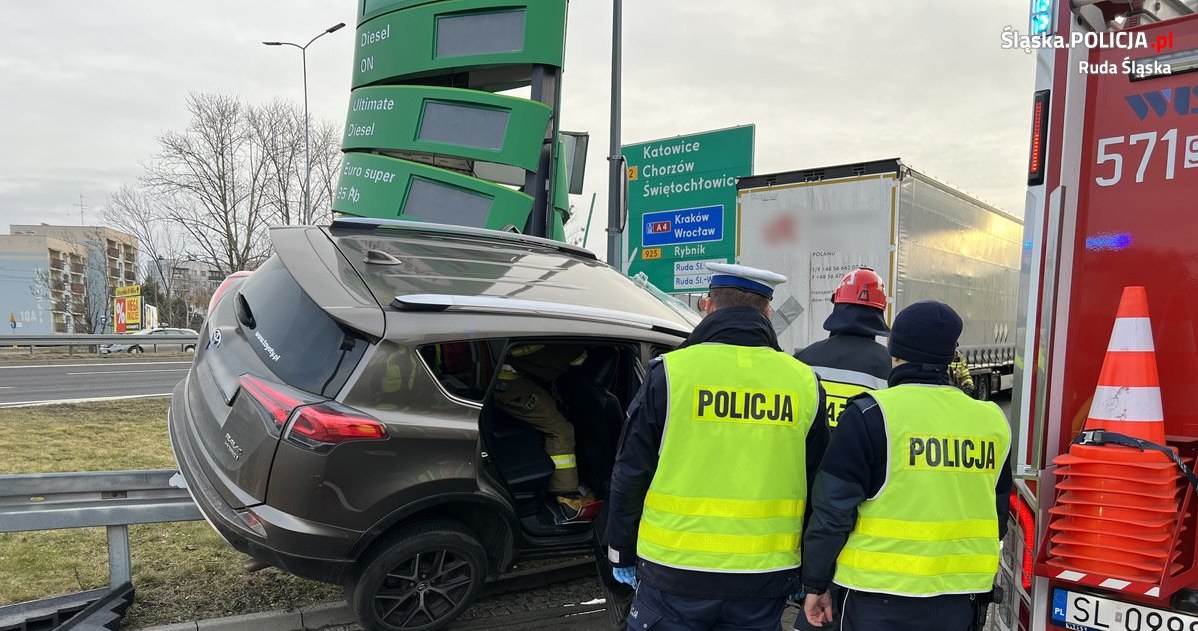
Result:
[[[358,560],[346,600],[369,631],[444,629],[478,596],[486,551],[465,526],[409,526]]]

